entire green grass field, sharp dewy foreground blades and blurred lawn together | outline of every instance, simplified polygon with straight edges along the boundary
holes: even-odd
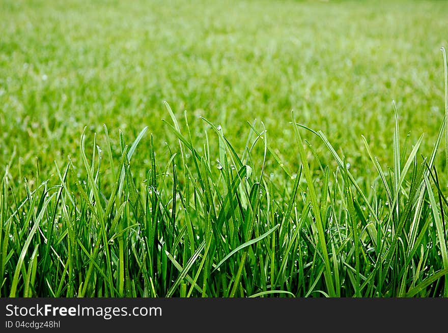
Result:
[[[447,17],[2,1],[0,296],[448,297]]]

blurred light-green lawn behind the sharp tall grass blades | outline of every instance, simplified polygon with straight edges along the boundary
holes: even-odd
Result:
[[[149,126],[167,160],[164,143],[176,143],[161,121],[167,101],[181,124],[187,111],[199,146],[209,129],[199,116],[220,124],[240,152],[247,122],[260,129],[263,121],[296,169],[294,110],[341,149],[355,176],[370,177],[361,134],[391,165],[392,100],[402,138],[426,133],[421,151],[430,152],[443,116],[447,19],[441,1],[2,1],[2,173],[14,157],[11,180],[34,179],[38,157],[48,178],[54,160],[79,162],[83,127],[93,142],[103,124],[115,147],[118,129],[131,141]],[[303,135],[325,162],[321,142]],[[147,167],[144,143],[133,170]]]

